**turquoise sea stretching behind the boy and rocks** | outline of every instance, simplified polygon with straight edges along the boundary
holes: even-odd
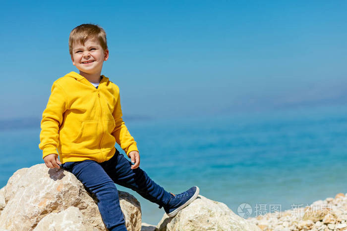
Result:
[[[255,216],[257,205],[284,211],[347,192],[347,106],[124,120],[156,183],[173,193],[198,185],[236,214],[241,203]],[[17,169],[43,163],[39,133],[39,124],[0,130],[0,187]],[[164,210],[132,193],[142,221],[156,225]]]

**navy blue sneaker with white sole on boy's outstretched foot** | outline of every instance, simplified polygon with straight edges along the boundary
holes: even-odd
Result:
[[[198,186],[193,186],[180,194],[172,194],[169,203],[163,206],[166,214],[168,214],[169,217],[174,217],[181,209],[193,202],[198,195]]]

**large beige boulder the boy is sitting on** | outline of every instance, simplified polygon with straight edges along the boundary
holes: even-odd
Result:
[[[5,207],[0,227],[11,231],[33,230],[50,213],[76,207],[91,226],[105,231],[96,198],[77,178],[63,169],[48,169],[45,164],[19,169],[4,189]],[[141,230],[141,208],[135,197],[119,191],[120,207],[128,231]]]

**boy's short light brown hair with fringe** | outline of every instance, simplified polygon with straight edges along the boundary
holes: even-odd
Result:
[[[107,49],[107,40],[106,32],[104,29],[98,25],[94,24],[82,24],[75,27],[69,36],[69,52],[72,55],[72,46],[75,43],[81,43],[84,45],[84,42],[87,39],[94,38],[99,41],[100,46],[106,50]]]

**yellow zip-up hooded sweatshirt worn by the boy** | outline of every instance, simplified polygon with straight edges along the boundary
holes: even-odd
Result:
[[[53,83],[42,114],[39,148],[43,158],[59,153],[61,163],[104,162],[115,154],[116,142],[129,156],[137,146],[121,117],[116,84],[102,76],[96,89],[83,76],[68,73]]]

